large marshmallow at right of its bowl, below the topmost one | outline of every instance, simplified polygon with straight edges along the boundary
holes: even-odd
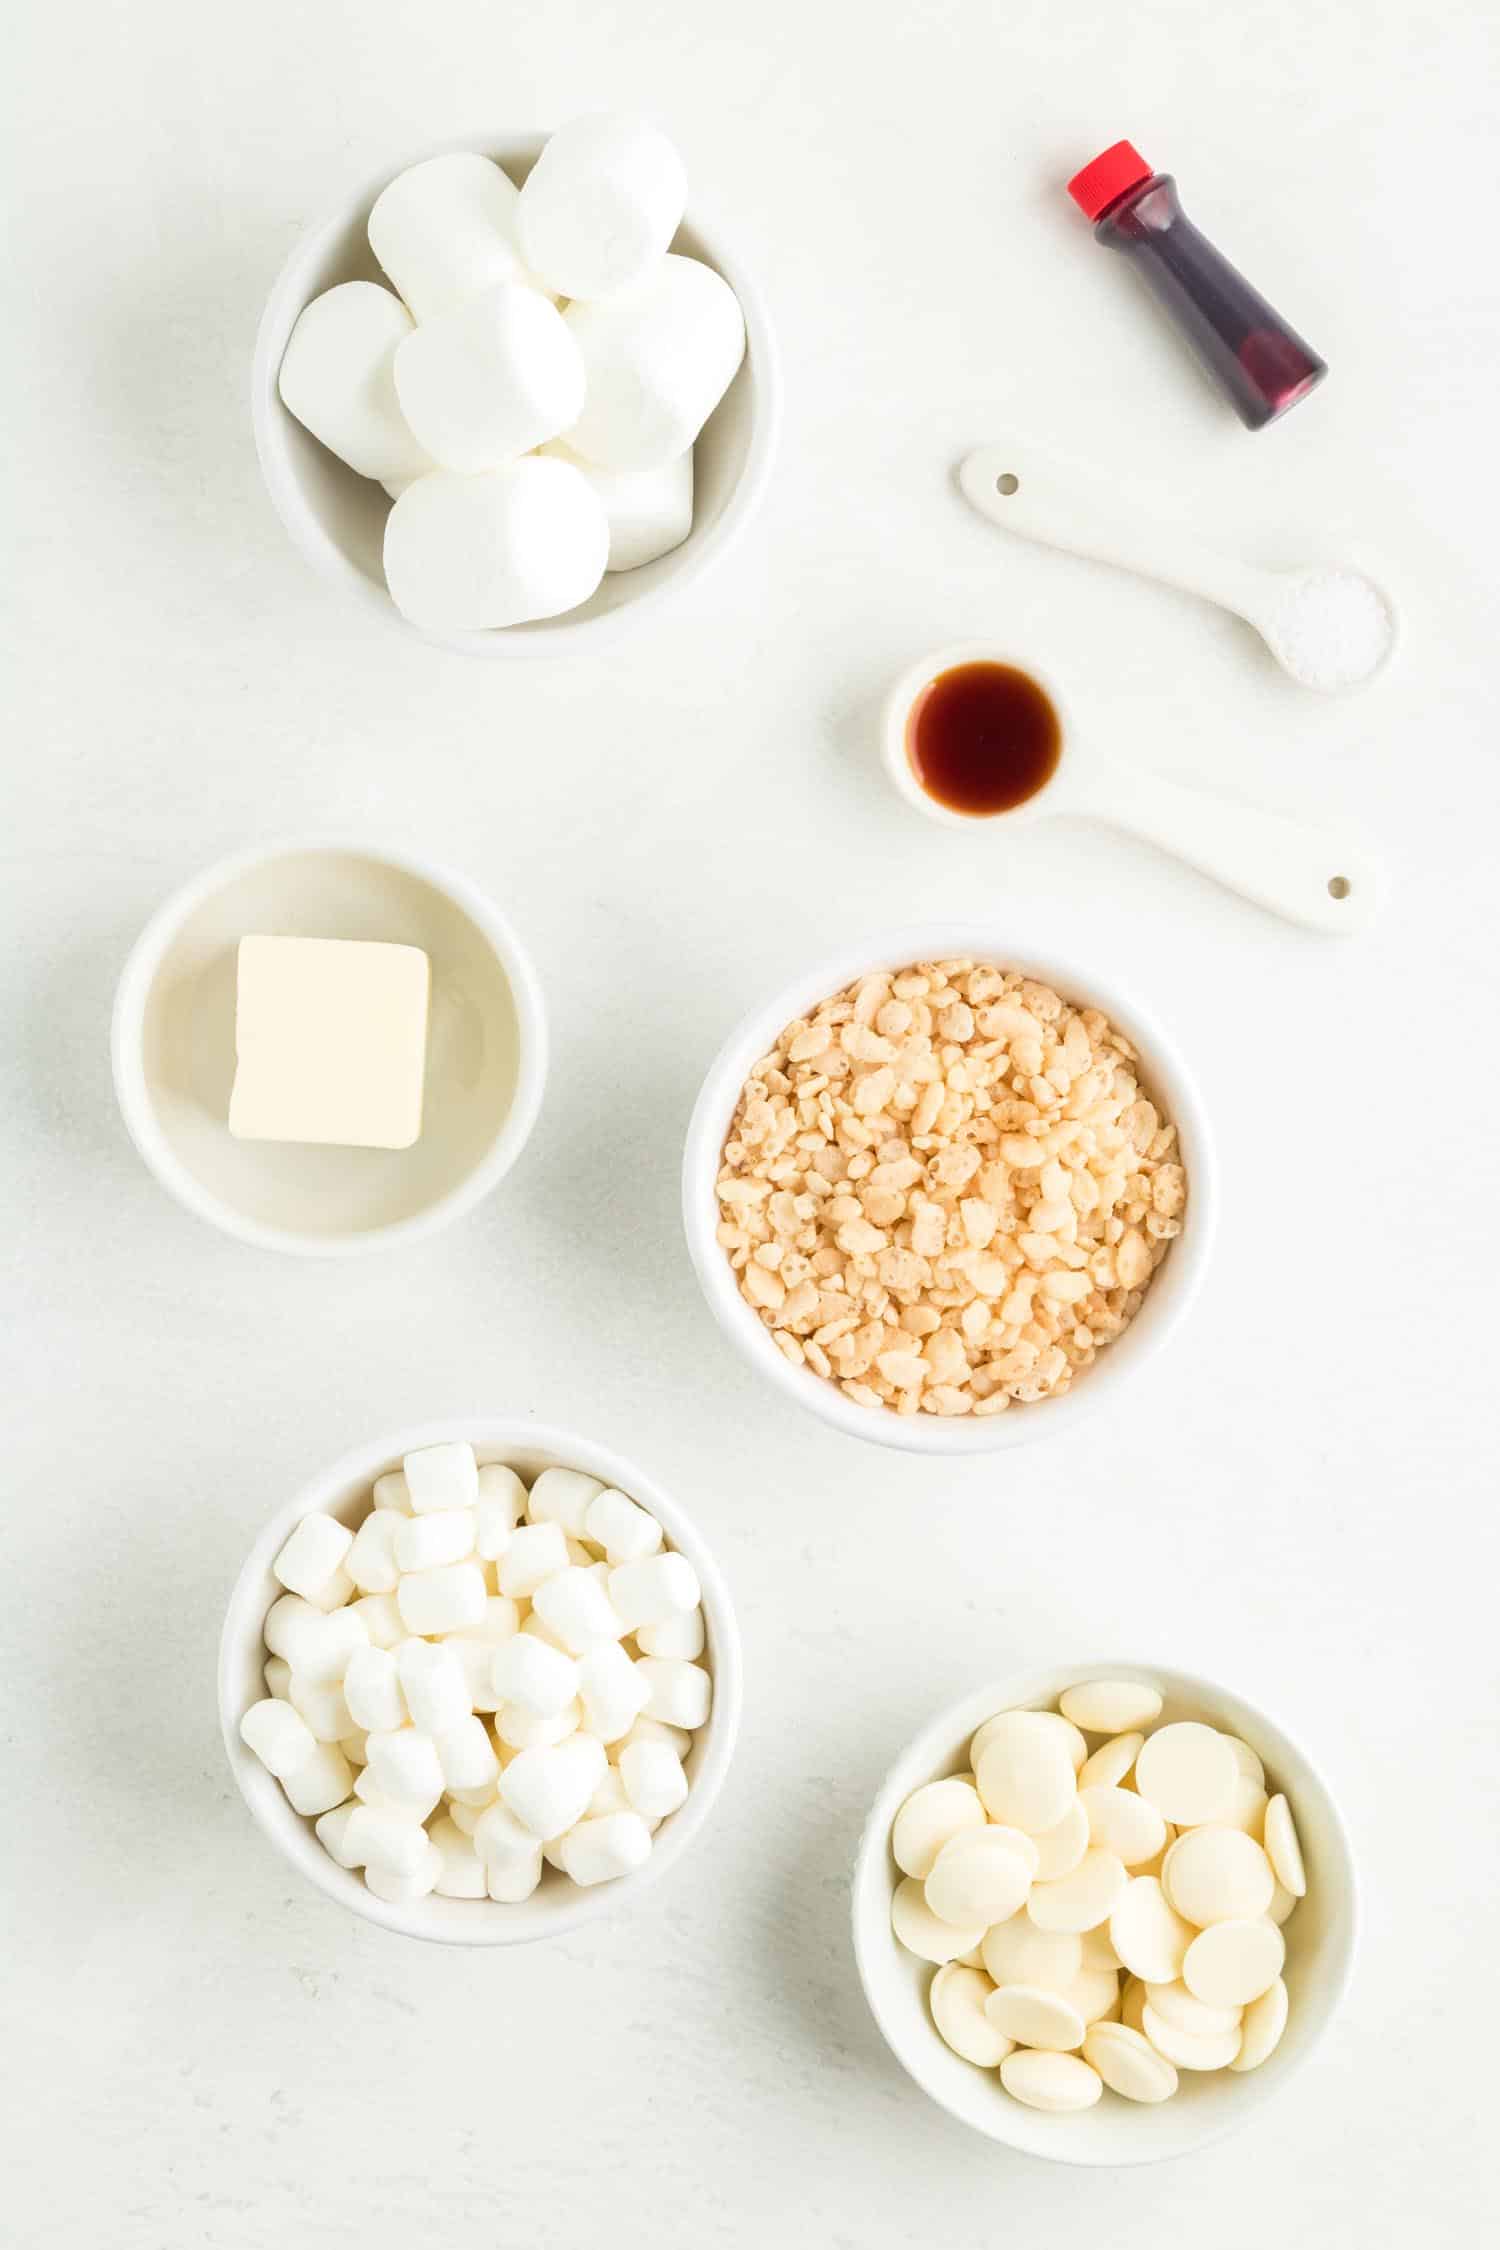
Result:
[[[562,315],[587,374],[567,441],[600,468],[679,459],[744,358],[744,315],[729,281],[699,259],[661,259],[618,297]]]

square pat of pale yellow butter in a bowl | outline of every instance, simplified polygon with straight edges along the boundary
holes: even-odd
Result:
[[[358,938],[241,938],[229,1132],[412,1148],[423,1130],[427,954]]]

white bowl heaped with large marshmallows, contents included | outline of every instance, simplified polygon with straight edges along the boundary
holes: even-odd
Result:
[[[560,655],[722,556],[780,421],[765,310],[632,115],[423,151],[272,288],[252,407],[297,547],[472,655]]]

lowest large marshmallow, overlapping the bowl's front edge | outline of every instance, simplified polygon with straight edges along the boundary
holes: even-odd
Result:
[[[430,632],[560,616],[589,598],[607,560],[598,493],[567,461],[542,454],[477,477],[418,477],[385,524],[391,601]]]

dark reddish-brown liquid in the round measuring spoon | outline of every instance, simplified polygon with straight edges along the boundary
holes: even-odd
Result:
[[[1014,664],[956,664],[913,702],[906,756],[927,794],[949,812],[1014,812],[1057,772],[1061,727],[1030,673]]]

